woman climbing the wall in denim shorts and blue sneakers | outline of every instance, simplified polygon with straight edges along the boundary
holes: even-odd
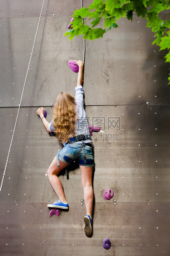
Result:
[[[65,198],[63,186],[58,178],[58,174],[70,164],[72,159],[78,158],[87,214],[84,217],[84,232],[86,236],[90,236],[92,233],[92,175],[94,159],[92,153],[92,140],[84,111],[84,90],[82,87],[83,62],[81,60],[76,60],[76,63],[79,66],[79,73],[77,87],[75,88],[75,98],[67,92],[61,92],[58,95],[51,123],[44,118],[44,110],[42,107],[37,110],[37,114],[42,119],[47,131],[49,133],[56,133],[59,142],[62,142],[64,145],[63,149],[61,149],[57,156],[54,157],[54,160],[47,171],[51,186],[59,199],[54,202],[54,204],[48,204],[48,207],[68,209],[68,202]]]

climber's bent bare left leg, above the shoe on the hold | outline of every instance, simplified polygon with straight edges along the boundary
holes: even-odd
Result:
[[[61,183],[61,180],[57,177],[57,175],[58,175],[58,173],[60,173],[60,171],[62,171],[69,164],[65,164],[60,160],[59,160],[59,163],[60,163],[60,167],[57,166],[57,159],[55,157],[48,168],[47,174],[49,177],[49,182],[51,183],[51,186],[53,187],[54,191],[56,192],[58,199],[63,202],[67,202],[65,199],[63,185]]]

